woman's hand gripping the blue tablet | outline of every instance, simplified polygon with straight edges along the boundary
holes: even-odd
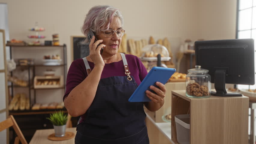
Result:
[[[157,88],[153,85],[151,85],[149,88],[152,89],[157,94],[154,94],[153,92],[147,90],[146,95],[148,98],[150,98],[154,103],[160,103],[164,100],[165,94],[166,94],[166,88],[164,84],[161,82],[156,82],[156,85],[160,88]]]

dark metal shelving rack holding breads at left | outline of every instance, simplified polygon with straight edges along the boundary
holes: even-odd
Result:
[[[10,58],[12,58],[12,47],[54,47],[54,48],[60,48],[62,47],[63,48],[63,64],[60,64],[60,65],[51,65],[51,66],[47,66],[47,65],[42,65],[42,64],[33,64],[33,65],[16,65],[18,67],[26,67],[28,69],[28,76],[29,76],[29,79],[28,79],[28,86],[26,87],[23,87],[23,86],[18,86],[18,85],[14,85],[13,82],[11,82],[11,85],[9,87],[11,87],[11,96],[13,98],[14,96],[14,87],[23,87],[23,88],[29,88],[29,102],[30,102],[30,108],[32,107],[32,103],[31,103],[31,90],[33,89],[34,91],[34,103],[36,103],[36,88],[33,87],[33,79],[35,77],[35,68],[36,67],[63,67],[63,79],[64,79],[64,86],[63,87],[60,87],[60,88],[40,88],[40,89],[64,89],[66,91],[66,86],[65,86],[65,82],[66,82],[66,73],[67,73],[67,48],[66,48],[66,44],[63,44],[63,45],[60,45],[60,46],[42,46],[42,45],[39,45],[39,46],[11,46],[11,45],[6,45],[6,46],[10,46]],[[30,70],[32,70],[32,79],[30,79],[30,76],[31,76],[31,72]],[[13,72],[11,72],[11,76],[13,76]],[[30,110],[31,111],[31,110]],[[30,112],[30,111],[27,111],[27,112]],[[39,110],[40,111],[40,110]],[[54,110],[41,110],[42,112],[46,112],[47,111],[54,111]],[[17,110],[17,111],[10,111],[12,113],[22,113],[20,110]],[[32,112],[31,112],[32,113]]]

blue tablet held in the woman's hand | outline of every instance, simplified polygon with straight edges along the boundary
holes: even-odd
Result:
[[[133,95],[129,98],[129,102],[144,102],[151,101],[146,95],[146,90],[154,92],[149,88],[150,85],[156,85],[156,82],[161,82],[165,84],[168,79],[175,73],[175,68],[165,68],[165,67],[153,67],[147,76],[143,79],[139,87],[133,92]],[[159,88],[159,87],[158,87]],[[155,93],[155,92],[154,92]]]

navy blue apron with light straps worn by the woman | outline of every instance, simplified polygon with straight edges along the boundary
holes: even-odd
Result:
[[[138,85],[121,56],[127,76],[100,79],[93,103],[78,121],[75,144],[149,144],[143,102],[128,101]]]

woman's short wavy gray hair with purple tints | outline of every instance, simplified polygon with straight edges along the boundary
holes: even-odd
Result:
[[[110,23],[114,16],[120,18],[123,26],[123,16],[121,15],[119,9],[109,5],[94,6],[87,13],[81,31],[86,37],[90,29],[92,29],[92,31],[98,35],[100,30],[109,29]],[[88,40],[85,39],[83,43],[88,43]]]

